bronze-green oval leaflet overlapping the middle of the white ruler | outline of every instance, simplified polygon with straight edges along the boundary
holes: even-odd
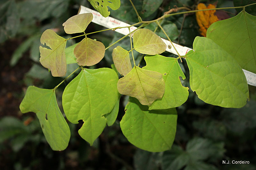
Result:
[[[139,29],[133,34],[133,47],[142,54],[156,55],[166,50],[166,44],[153,31]]]

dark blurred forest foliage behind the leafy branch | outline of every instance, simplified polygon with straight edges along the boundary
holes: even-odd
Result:
[[[159,3],[160,2],[160,3]],[[152,20],[174,5],[195,9],[199,2],[216,3],[208,0],[136,0],[134,4],[143,20]],[[252,0],[219,0],[217,7],[231,7],[251,4]],[[52,151],[47,144],[40,124],[34,113],[22,114],[19,105],[29,85],[40,88],[54,88],[65,77],[52,77],[39,63],[40,36],[46,29],[53,29],[60,36],[64,33],[62,23],[76,15],[79,5],[92,8],[87,0],[2,0],[0,1],[0,56],[1,56],[1,96],[0,96],[0,169],[138,169],[138,170],[255,170],[256,169],[256,88],[249,86],[250,101],[241,109],[221,108],[206,104],[189,91],[188,101],[177,108],[178,126],[172,149],[152,153],[140,150],[130,144],[120,130],[119,121],[124,115],[128,98],[122,97],[115,124],[106,127],[100,137],[90,147],[77,133],[81,124],[68,122],[71,138],[64,151]],[[255,6],[246,8],[255,15]],[[238,11],[229,10],[233,17]],[[225,12],[226,13],[226,12]],[[137,16],[128,0],[121,0],[121,7],[111,11],[111,16],[132,24]],[[184,20],[184,22],[183,22]],[[194,38],[199,36],[194,13],[166,18],[162,26],[170,38],[181,45],[192,47]],[[154,30],[156,25],[148,25]],[[182,30],[181,30],[182,27]],[[86,32],[104,29],[91,23]],[[160,30],[156,33],[165,38]],[[79,34],[77,34],[79,35]],[[76,36],[76,35],[72,35]],[[120,39],[122,35],[107,31],[89,36],[101,41],[105,46]],[[69,40],[70,46],[82,39]],[[130,48],[129,39],[118,45]],[[117,45],[116,45],[117,46]],[[99,64],[90,68],[110,67],[112,50],[106,50]],[[174,57],[164,52],[164,56]],[[136,63],[141,55],[135,52]],[[142,60],[140,66],[145,65]],[[182,80],[189,87],[189,71],[186,61],[181,64],[187,79]],[[76,64],[69,64],[67,75]],[[221,69],[221,68],[220,68]],[[75,75],[74,75],[75,76]],[[73,76],[73,77],[74,77]],[[63,89],[71,81],[69,78],[57,90],[60,107]],[[250,164],[222,164],[222,160],[246,160]]]

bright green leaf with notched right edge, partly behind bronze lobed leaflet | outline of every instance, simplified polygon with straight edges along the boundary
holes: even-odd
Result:
[[[171,57],[164,57],[162,55],[145,56],[147,65],[143,67],[145,70],[156,71],[163,75],[165,83],[164,96],[157,99],[149,110],[155,109],[169,109],[178,107],[185,103],[188,99],[188,88],[183,87],[180,82],[180,76],[185,79],[178,60]]]

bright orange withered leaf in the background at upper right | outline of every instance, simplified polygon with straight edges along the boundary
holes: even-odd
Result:
[[[204,9],[213,9],[216,8],[213,4],[209,4],[207,7],[205,4],[200,3],[197,5],[197,10],[204,10]],[[199,25],[199,32],[202,36],[206,37],[206,31],[209,26],[219,21],[218,17],[215,15],[216,10],[209,10],[209,11],[198,11],[196,12],[196,21]]]

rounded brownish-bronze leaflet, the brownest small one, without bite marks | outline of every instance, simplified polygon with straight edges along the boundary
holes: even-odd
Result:
[[[100,41],[84,38],[74,49],[79,66],[92,66],[100,62],[105,54],[105,46]]]

